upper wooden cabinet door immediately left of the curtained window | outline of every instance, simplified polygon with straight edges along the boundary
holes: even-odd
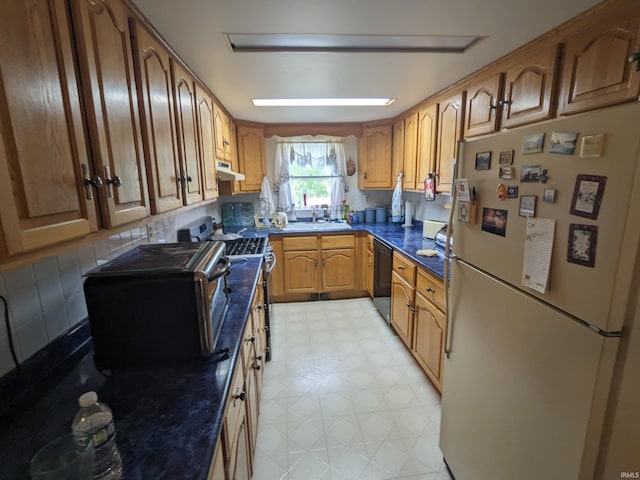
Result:
[[[245,179],[240,182],[240,191],[259,192],[266,175],[264,156],[264,131],[262,128],[238,126],[238,166]]]

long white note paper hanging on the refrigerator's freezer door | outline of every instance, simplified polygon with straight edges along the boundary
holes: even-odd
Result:
[[[556,222],[553,219],[527,219],[521,283],[536,292],[549,291],[549,271],[555,229]]]

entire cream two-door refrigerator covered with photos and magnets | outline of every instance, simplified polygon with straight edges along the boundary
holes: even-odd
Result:
[[[476,218],[458,195],[440,434],[456,480],[597,478],[638,293],[639,120],[634,103],[461,144]],[[536,243],[532,219],[553,235]]]

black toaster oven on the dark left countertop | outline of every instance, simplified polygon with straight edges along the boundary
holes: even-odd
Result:
[[[84,281],[99,370],[208,356],[228,307],[223,242],[140,245]]]

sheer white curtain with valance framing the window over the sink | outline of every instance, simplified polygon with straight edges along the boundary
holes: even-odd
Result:
[[[291,184],[291,163],[296,161],[323,162],[331,166],[331,205],[341,206],[349,191],[347,161],[342,140],[326,136],[277,138],[274,193],[278,195],[277,207],[291,212],[295,196]],[[303,159],[303,160],[301,160]]]

